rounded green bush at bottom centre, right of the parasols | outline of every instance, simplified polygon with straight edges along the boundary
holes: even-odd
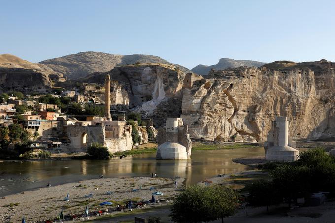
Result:
[[[233,215],[239,201],[238,192],[226,186],[194,185],[178,194],[171,208],[173,222],[201,223]]]

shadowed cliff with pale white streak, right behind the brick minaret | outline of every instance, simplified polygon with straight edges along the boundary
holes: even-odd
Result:
[[[169,110],[174,106],[176,107],[174,111],[177,111],[174,117],[180,115],[185,74],[178,68],[167,64],[118,66],[107,73],[88,75],[83,82],[102,84],[106,74],[110,75],[112,81],[118,83],[115,86],[119,94],[114,97],[115,102],[112,104],[115,104],[116,100],[122,101],[123,104],[128,103],[129,108],[153,117],[154,121],[167,117]],[[162,107],[169,109],[162,111]]]

